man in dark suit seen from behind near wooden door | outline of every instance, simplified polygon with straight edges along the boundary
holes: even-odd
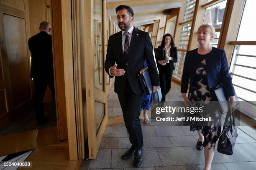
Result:
[[[38,125],[46,123],[44,116],[43,99],[47,86],[50,87],[53,100],[54,93],[54,70],[51,46],[51,25],[46,21],[40,23],[40,32],[28,39],[28,47],[31,52],[31,75],[34,80],[34,109]]]

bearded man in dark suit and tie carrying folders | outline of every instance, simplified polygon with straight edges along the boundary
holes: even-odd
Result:
[[[138,167],[143,161],[143,136],[139,116],[144,93],[138,80],[138,73],[144,68],[145,59],[153,92],[159,85],[159,77],[148,32],[138,30],[133,26],[134,18],[131,7],[120,5],[115,10],[121,31],[109,37],[105,70],[111,78],[115,76],[115,92],[118,94],[125,127],[132,144],[132,147],[121,158],[131,158],[135,153],[133,166]]]

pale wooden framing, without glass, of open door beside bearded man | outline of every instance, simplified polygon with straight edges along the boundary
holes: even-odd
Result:
[[[106,20],[108,19],[106,16],[106,0],[102,0],[103,5],[103,17],[102,17],[102,24],[103,24],[103,47],[106,45],[106,41],[104,39],[107,38],[106,35]],[[93,60],[93,0],[86,0],[84,2],[83,6],[83,20],[82,25],[83,28],[81,28],[81,31],[83,32],[80,37],[82,37],[83,43],[81,43],[81,58],[84,58],[84,65],[86,67],[83,68],[84,70],[84,90],[85,90],[85,99],[86,100],[86,107],[83,108],[84,113],[86,116],[84,119],[87,120],[87,135],[88,135],[88,145],[89,145],[89,158],[95,159],[97,155],[97,151],[100,147],[100,141],[103,137],[103,133],[105,131],[105,127],[108,122],[108,105],[107,105],[107,95],[105,96],[97,96],[95,91],[100,91],[97,88],[95,88],[94,85],[94,60]],[[82,30],[83,29],[83,30]],[[103,59],[105,60],[105,48],[103,50]],[[84,56],[82,56],[84,55]],[[89,56],[89,57],[88,57]],[[106,76],[104,73],[104,91],[106,94]],[[93,81],[92,81],[93,80]],[[100,100],[97,101],[105,101],[105,115],[102,119],[100,128],[98,132],[96,132],[95,128],[95,116],[94,116],[94,105],[95,105],[95,98],[98,98]],[[92,128],[94,127],[94,128]],[[97,135],[96,135],[97,134]]]

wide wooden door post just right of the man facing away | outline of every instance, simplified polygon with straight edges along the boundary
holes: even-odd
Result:
[[[71,0],[53,0],[53,40],[56,77],[56,110],[67,114],[69,159],[78,160],[76,105],[74,92]],[[60,61],[60,62],[57,62]],[[61,70],[57,69],[61,68]],[[63,94],[64,92],[64,94]],[[62,97],[60,97],[62,96]],[[64,107],[64,108],[63,108]],[[58,120],[59,122],[59,120]]]

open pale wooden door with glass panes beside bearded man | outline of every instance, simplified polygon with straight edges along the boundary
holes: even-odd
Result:
[[[95,159],[108,121],[106,76],[104,73],[105,0],[88,0],[84,4],[87,25],[85,34],[85,88],[89,158]],[[104,33],[103,33],[104,32]]]

